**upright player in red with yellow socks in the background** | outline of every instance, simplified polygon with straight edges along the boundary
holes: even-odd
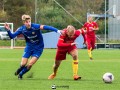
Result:
[[[88,49],[88,55],[90,57],[90,60],[92,60],[92,50],[95,48],[95,31],[99,30],[98,24],[93,21],[93,18],[91,16],[88,17],[88,22],[86,22],[83,26],[84,29],[86,29],[86,45]]]

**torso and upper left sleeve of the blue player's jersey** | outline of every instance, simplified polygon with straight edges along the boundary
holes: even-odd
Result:
[[[31,24],[31,28],[27,29],[25,25],[19,27],[14,33],[17,35],[23,34],[26,40],[26,45],[34,46],[40,45],[44,47],[43,36],[40,30],[40,24]]]

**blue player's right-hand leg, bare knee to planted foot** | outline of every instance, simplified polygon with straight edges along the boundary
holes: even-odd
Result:
[[[32,57],[28,65],[24,67],[23,70],[19,73],[18,78],[22,78],[22,76],[31,69],[31,67],[36,63],[37,60],[37,57]]]

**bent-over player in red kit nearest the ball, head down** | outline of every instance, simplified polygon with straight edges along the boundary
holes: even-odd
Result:
[[[48,79],[53,79],[56,76],[58,67],[60,66],[62,60],[66,59],[67,53],[70,54],[73,58],[72,66],[74,80],[81,79],[81,77],[78,75],[78,50],[75,39],[83,33],[84,30],[75,30],[72,25],[68,25],[66,29],[62,30],[62,34],[60,35],[57,44],[58,48],[53,66],[53,73],[48,77]]]

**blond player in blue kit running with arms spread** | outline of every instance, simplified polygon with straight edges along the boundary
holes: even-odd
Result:
[[[4,25],[11,39],[23,34],[26,40],[26,47],[20,67],[15,72],[15,75],[18,75],[18,79],[22,79],[23,75],[31,69],[43,52],[44,42],[41,30],[51,30],[60,34],[60,31],[52,26],[31,23],[31,17],[29,15],[22,15],[22,21],[23,25],[14,33],[11,33],[7,23]],[[31,60],[28,63],[30,57]]]

